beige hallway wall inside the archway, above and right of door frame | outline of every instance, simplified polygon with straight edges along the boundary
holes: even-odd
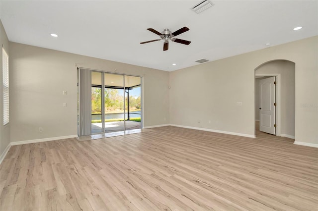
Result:
[[[295,136],[295,63],[286,60],[271,61],[257,68],[255,73],[280,74],[280,130],[282,136]]]

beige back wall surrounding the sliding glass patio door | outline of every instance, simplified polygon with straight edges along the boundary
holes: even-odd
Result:
[[[76,63],[143,76],[144,126],[169,123],[169,72],[10,43],[11,142],[77,134]]]

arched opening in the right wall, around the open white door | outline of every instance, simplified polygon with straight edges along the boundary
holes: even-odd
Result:
[[[275,85],[275,133],[295,139],[295,63],[289,60],[272,60],[255,68],[255,134],[262,126],[262,99],[259,84],[273,77]],[[259,126],[259,127],[257,127]]]

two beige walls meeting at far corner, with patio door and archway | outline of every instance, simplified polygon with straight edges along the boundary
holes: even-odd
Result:
[[[296,141],[318,144],[317,45],[316,36],[169,73],[10,43],[11,142],[77,134],[76,63],[144,76],[145,126],[171,123],[252,136],[254,71],[285,59],[296,64]]]

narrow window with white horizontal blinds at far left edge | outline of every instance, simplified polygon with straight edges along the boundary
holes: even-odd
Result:
[[[2,48],[3,125],[9,123],[9,56]]]

